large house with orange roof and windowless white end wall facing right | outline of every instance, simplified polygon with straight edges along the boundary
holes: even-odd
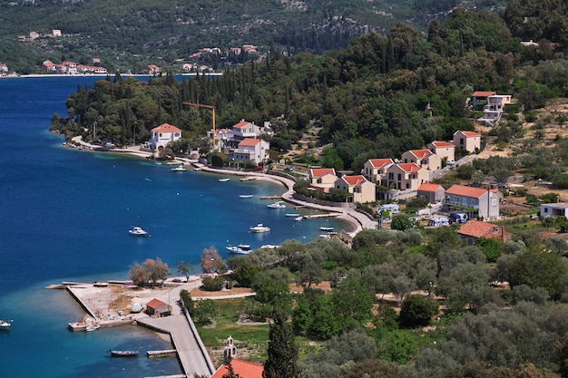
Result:
[[[465,210],[469,218],[475,216],[484,219],[499,217],[500,192],[497,189],[466,187],[453,185],[446,190],[444,204],[456,210]]]

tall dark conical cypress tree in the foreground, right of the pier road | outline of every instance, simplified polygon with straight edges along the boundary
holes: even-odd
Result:
[[[291,326],[286,323],[286,314],[276,309],[273,324],[269,330],[268,359],[264,363],[262,378],[294,378],[298,345],[294,339]]]

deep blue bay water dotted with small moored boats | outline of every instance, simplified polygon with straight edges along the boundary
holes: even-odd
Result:
[[[142,78],[147,80],[147,78]],[[153,160],[109,152],[73,150],[51,133],[54,113],[78,86],[100,77],[0,80],[0,378],[141,378],[179,374],[176,359],[149,360],[145,351],[171,344],[142,326],[73,333],[67,324],[83,310],[64,290],[65,281],[128,279],[132,264],[160,257],[173,276],[180,261],[201,273],[204,248],[279,245],[314,240],[321,226],[350,229],[339,219],[294,221],[270,209],[263,196],[284,188],[261,181],[195,172],[172,172]],[[158,126],[158,125],[156,125]],[[241,194],[252,195],[240,199]],[[251,234],[250,226],[269,226]],[[140,226],[149,237],[132,237]],[[110,349],[135,349],[141,357],[111,358]]]

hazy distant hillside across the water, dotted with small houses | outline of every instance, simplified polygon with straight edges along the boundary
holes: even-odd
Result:
[[[497,9],[503,4],[475,0],[465,6]],[[321,53],[345,48],[357,35],[385,34],[399,21],[425,31],[429,21],[445,19],[455,5],[455,0],[2,2],[0,62],[18,73],[34,73],[46,59],[86,64],[97,57],[109,72],[137,72],[148,63],[171,66],[203,47],[252,44],[261,53]],[[53,37],[54,29],[63,35]],[[18,42],[18,36],[31,32],[40,37]],[[214,66],[224,63],[211,60]]]

